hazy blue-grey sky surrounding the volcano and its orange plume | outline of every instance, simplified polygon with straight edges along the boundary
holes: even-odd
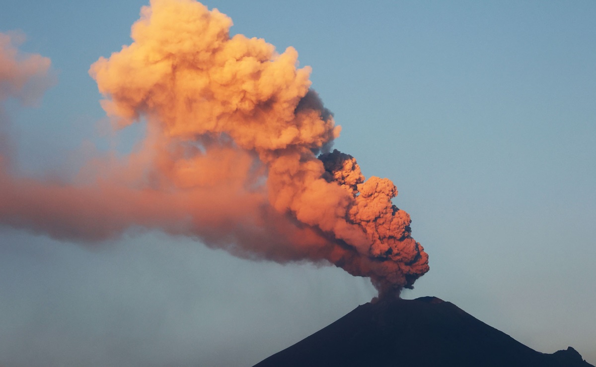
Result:
[[[51,59],[37,103],[4,102],[15,170],[57,180],[125,156],[89,68],[145,1],[5,2],[0,32]],[[334,148],[395,205],[436,296],[539,352],[596,364],[596,4],[210,1],[232,34],[293,46],[342,131]],[[1,149],[0,149],[1,150]],[[0,227],[0,365],[251,366],[377,294],[334,266],[240,259],[134,228],[89,243]]]

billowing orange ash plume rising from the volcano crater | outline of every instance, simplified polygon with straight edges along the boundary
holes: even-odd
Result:
[[[329,152],[340,127],[293,48],[230,37],[231,25],[192,0],[142,8],[134,42],[90,70],[120,127],[147,121],[141,148],[71,184],[0,169],[0,222],[83,241],[161,228],[247,258],[327,261],[381,293],[411,287],[428,256],[395,185]]]

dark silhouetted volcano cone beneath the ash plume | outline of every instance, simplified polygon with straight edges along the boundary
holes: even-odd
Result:
[[[572,347],[539,353],[436,297],[366,303],[254,367],[594,367]]]

